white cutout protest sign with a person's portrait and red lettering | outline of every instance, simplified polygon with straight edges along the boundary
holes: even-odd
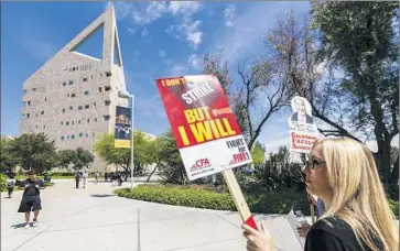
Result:
[[[292,110],[289,118],[291,149],[293,152],[310,153],[314,141],[318,139],[311,105],[305,98],[295,96],[292,99]]]

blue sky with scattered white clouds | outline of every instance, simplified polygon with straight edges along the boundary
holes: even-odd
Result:
[[[107,2],[2,2],[1,133],[20,133],[22,86],[36,69],[100,15]],[[129,92],[136,95],[136,127],[151,134],[169,129],[154,79],[199,74],[198,58],[223,50],[234,81],[240,61],[266,53],[264,34],[290,10],[298,19],[309,2],[115,2]],[[101,34],[77,51],[101,53]],[[267,152],[289,144],[290,111],[271,117],[259,141]]]

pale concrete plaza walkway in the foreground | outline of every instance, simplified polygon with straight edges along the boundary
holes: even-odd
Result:
[[[42,190],[36,228],[24,229],[17,209],[21,192],[1,194],[2,251],[245,251],[237,212],[175,207],[112,195],[110,183],[75,189],[55,181]],[[301,248],[283,216],[256,216],[275,241],[275,250]]]

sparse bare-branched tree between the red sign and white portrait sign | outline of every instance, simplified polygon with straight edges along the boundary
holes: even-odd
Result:
[[[240,126],[241,132],[251,150],[261,133],[262,127],[268,119],[282,107],[289,103],[292,97],[281,78],[279,67],[269,58],[274,56],[268,54],[253,62],[250,67],[246,64],[238,65],[238,75],[241,79],[236,89],[231,86],[231,77],[227,68],[227,62],[221,59],[219,51],[215,55],[207,55],[203,62],[203,74],[214,74],[229,98],[229,105]]]

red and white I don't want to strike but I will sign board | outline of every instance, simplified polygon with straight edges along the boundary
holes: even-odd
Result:
[[[252,162],[216,76],[162,78],[156,85],[190,181]]]

